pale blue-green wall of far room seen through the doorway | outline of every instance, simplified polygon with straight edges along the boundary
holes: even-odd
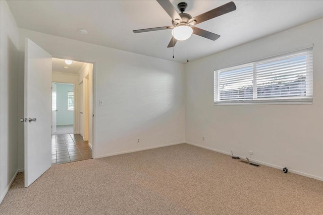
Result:
[[[73,125],[74,124],[74,110],[68,110],[67,94],[74,92],[73,84],[56,83],[56,102],[57,114],[56,125]]]

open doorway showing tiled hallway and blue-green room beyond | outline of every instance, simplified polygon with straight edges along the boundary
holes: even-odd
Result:
[[[52,165],[92,158],[92,74],[92,63],[52,58]]]

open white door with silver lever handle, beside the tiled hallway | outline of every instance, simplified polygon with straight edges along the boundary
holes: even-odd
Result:
[[[29,120],[30,119],[30,120]],[[51,167],[51,55],[25,39],[25,187]]]

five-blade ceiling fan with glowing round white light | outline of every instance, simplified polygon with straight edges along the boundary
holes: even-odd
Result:
[[[172,18],[173,26],[139,29],[139,30],[134,30],[133,32],[142,33],[142,32],[149,32],[149,31],[173,29],[172,30],[173,37],[167,46],[168,48],[174,47],[178,40],[188,39],[192,35],[192,33],[213,41],[217,40],[220,37],[220,35],[197,28],[194,25],[197,25],[199,23],[202,23],[214,17],[227,14],[237,9],[236,5],[233,2],[229,2],[223,6],[220,6],[204,14],[200,14],[192,18],[191,15],[184,13],[187,8],[187,4],[185,2],[179,3],[177,5],[177,8],[181,12],[180,14],[178,14],[169,0],[156,0],[156,1],[159,3],[161,7],[163,7],[166,13],[168,13],[168,15]]]

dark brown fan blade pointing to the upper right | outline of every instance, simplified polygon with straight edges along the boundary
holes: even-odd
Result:
[[[204,14],[193,17],[189,20],[189,23],[193,20],[196,21],[196,24],[204,22],[206,20],[212,19],[214,17],[219,17],[221,15],[227,14],[229,12],[235,11],[237,9],[236,5],[233,2],[229,2],[223,6],[210,10]]]

